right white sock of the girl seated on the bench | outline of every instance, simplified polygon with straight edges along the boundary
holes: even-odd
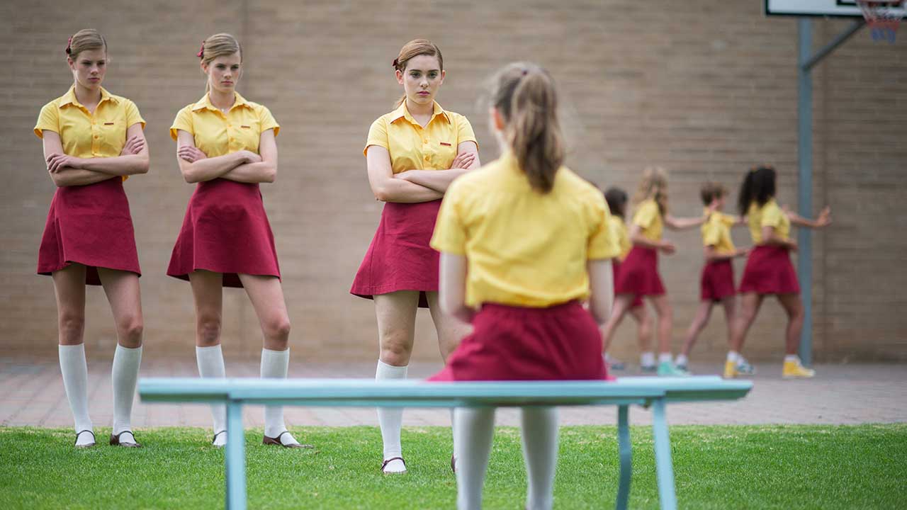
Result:
[[[526,459],[528,510],[550,510],[558,464],[557,407],[522,408],[522,456]]]

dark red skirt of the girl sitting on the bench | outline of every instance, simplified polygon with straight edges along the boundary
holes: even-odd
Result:
[[[549,308],[486,304],[473,333],[430,380],[606,379],[598,325],[579,302]]]

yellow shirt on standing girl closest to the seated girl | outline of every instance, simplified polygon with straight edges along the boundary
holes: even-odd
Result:
[[[448,112],[434,103],[432,119],[423,128],[406,109],[406,102],[391,113],[375,119],[368,129],[363,154],[372,145],[391,154],[394,173],[407,170],[447,170],[460,143],[475,142],[473,126],[459,113]],[[476,142],[478,145],[478,142]]]

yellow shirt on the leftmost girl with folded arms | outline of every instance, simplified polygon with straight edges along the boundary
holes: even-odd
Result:
[[[90,113],[75,98],[75,86],[69,92],[44,104],[34,124],[34,134],[44,138],[44,131],[60,135],[63,153],[75,158],[112,158],[119,156],[126,145],[126,130],[134,123],[141,123],[135,103],[107,92],[101,87],[101,101]],[[122,177],[123,181],[126,176]]]

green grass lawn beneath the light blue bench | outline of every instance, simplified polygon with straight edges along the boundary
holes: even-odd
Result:
[[[200,428],[138,430],[139,450],[73,448],[73,432],[0,427],[0,507],[220,508],[223,451]],[[297,427],[317,447],[262,446],[246,434],[249,508],[453,508],[451,435],[406,428],[403,476],[379,471],[376,427]],[[680,508],[905,508],[907,424],[671,427]],[[658,508],[649,427],[633,427],[631,508]],[[555,508],[609,508],[617,494],[615,427],[562,427]],[[519,430],[500,427],[485,508],[522,508]]]

